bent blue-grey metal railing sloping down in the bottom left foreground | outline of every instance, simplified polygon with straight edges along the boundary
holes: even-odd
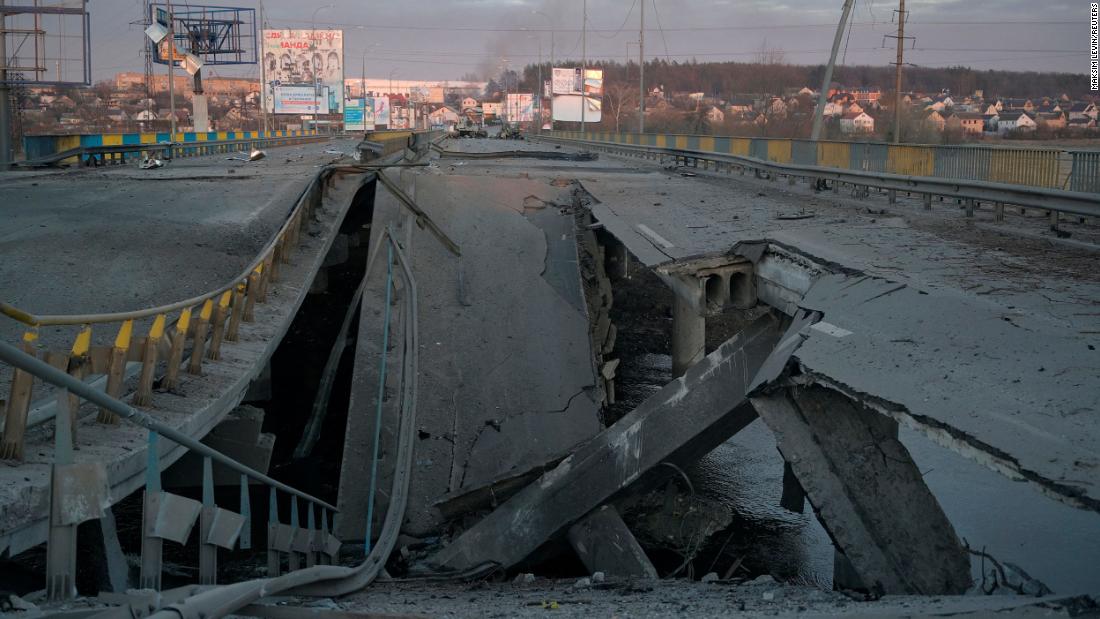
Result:
[[[252,548],[252,508],[249,480],[270,490],[267,513],[267,573],[278,576],[284,559],[287,570],[331,564],[340,552],[340,540],[331,531],[331,516],[338,510],[328,502],[292,488],[157,421],[63,369],[0,342],[0,361],[58,388],[58,410],[68,412],[69,398],[82,398],[148,430],[145,465],[145,496],[142,511],[142,550],[140,588],[161,589],[163,545],[165,541],[186,544],[196,521],[199,523],[199,583],[217,584],[218,549]],[[67,600],[76,596],[77,527],[102,518],[109,509],[110,484],[102,462],[75,462],[72,429],[58,423],[54,434],[54,462],[51,471],[50,533],[46,540],[46,598]],[[161,487],[160,436],[172,440],[202,456],[202,500],[197,501],[165,491]],[[241,476],[241,498],[237,511],[219,507],[213,495],[213,464],[226,466]],[[279,521],[278,497],[290,501],[290,522]],[[306,524],[299,519],[298,501],[304,501]]]

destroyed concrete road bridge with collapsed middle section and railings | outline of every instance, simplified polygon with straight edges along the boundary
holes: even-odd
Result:
[[[772,575],[871,614],[1100,592],[1096,157],[101,151],[0,177],[0,588],[28,612],[436,615],[372,592],[543,575]]]

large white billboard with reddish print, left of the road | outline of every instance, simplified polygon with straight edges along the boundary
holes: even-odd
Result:
[[[265,30],[263,62],[268,112],[302,113],[302,88],[311,98],[315,90],[321,92],[319,101],[310,101],[309,113],[343,112],[343,31]]]

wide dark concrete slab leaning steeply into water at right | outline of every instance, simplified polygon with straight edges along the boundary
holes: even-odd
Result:
[[[969,555],[892,419],[820,386],[751,402],[868,590],[950,595],[970,586]]]

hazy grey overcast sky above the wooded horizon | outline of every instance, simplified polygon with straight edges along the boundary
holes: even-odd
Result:
[[[590,58],[638,55],[638,18],[646,3],[646,56],[700,62],[751,60],[762,48],[787,62],[828,59],[843,0],[588,0]],[[178,3],[178,2],[177,2]],[[218,0],[211,4],[237,4]],[[260,2],[240,0],[242,7]],[[142,69],[141,0],[90,0],[96,79]],[[582,0],[265,0],[268,27],[344,30],[348,76],[458,79],[549,60],[551,30],[558,59],[580,59]],[[893,11],[888,0],[856,0],[845,64],[893,62]],[[319,9],[319,10],[317,10]],[[906,62],[980,69],[1088,71],[1088,9],[1084,0],[909,0]],[[541,11],[548,16],[537,14]],[[893,23],[892,23],[893,22]],[[157,67],[157,70],[164,70]],[[206,71],[204,71],[206,73]],[[215,75],[256,76],[256,67],[221,67]]]

